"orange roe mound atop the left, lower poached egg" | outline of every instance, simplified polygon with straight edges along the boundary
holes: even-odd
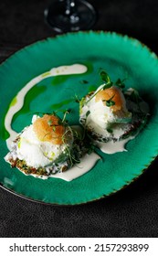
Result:
[[[33,123],[33,130],[42,142],[62,144],[65,127],[58,123],[59,118],[56,115],[45,114]]]

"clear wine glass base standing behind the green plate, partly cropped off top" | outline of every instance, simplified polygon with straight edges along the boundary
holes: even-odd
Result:
[[[76,0],[76,12],[66,14],[66,1],[54,1],[44,12],[47,24],[58,33],[88,30],[96,22],[97,13],[90,3],[85,0]]]

